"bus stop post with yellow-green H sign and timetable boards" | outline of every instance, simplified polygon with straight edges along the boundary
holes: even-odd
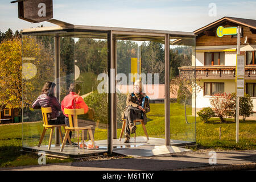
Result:
[[[222,26],[217,28],[216,34],[218,37],[224,35],[237,34],[237,61],[236,61],[236,93],[237,93],[237,107],[236,107],[236,143],[238,143],[239,134],[239,98],[245,94],[245,56],[240,55],[240,41],[241,41],[241,27],[228,27]]]

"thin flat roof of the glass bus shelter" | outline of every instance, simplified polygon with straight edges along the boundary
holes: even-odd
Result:
[[[51,19],[48,22],[57,24],[56,27],[38,27],[29,28],[22,31],[23,35],[40,36],[70,36],[85,38],[106,38],[109,31],[113,32],[113,38],[118,40],[137,40],[137,41],[158,41],[164,42],[166,34],[170,39],[195,38],[193,32],[149,30],[139,28],[121,28],[121,27],[102,27],[102,26],[84,26],[65,23],[60,20]]]

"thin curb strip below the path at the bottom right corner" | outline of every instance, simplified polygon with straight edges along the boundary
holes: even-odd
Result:
[[[249,169],[256,169],[256,163],[226,164],[220,166],[182,168],[172,169],[171,171],[240,171]]]

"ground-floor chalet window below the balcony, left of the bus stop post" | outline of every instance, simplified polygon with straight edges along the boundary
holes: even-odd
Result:
[[[216,93],[224,93],[224,83],[204,82],[204,96],[213,96]]]

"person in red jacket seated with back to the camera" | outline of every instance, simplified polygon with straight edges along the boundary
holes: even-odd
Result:
[[[79,96],[81,90],[81,86],[79,84],[72,83],[69,86],[69,94],[64,97],[61,102],[61,110],[65,115],[65,124],[69,126],[68,115],[65,114],[64,108],[66,109],[84,109],[84,114],[86,114],[89,110],[88,106],[85,104],[84,100],[81,96]],[[69,133],[69,137],[71,138],[72,131]],[[68,141],[67,141],[68,144]],[[70,144],[70,143],[69,143]]]

